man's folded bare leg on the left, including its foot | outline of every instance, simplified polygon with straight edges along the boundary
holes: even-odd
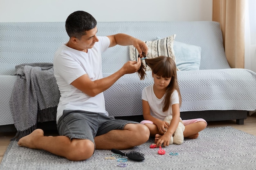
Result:
[[[94,143],[88,139],[72,139],[66,136],[44,136],[41,129],[18,141],[19,146],[31,149],[43,149],[55,155],[65,157],[72,161],[90,158],[94,153]]]

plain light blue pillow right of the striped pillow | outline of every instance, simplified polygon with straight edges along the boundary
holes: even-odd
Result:
[[[173,49],[177,68],[181,71],[199,70],[201,61],[200,46],[175,41]]]

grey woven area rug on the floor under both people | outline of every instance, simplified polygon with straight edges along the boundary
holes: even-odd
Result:
[[[151,149],[150,138],[145,144],[123,150],[144,153],[145,160],[128,159],[126,167],[117,166],[110,150],[96,150],[85,161],[69,161],[44,150],[19,147],[11,141],[0,164],[0,170],[255,170],[256,137],[231,127],[206,128],[198,139],[185,139],[181,145]],[[178,155],[170,155],[176,152]]]

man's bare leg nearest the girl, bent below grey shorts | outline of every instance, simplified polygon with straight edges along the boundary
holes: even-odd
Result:
[[[143,124],[126,124],[124,130],[110,132],[94,138],[96,149],[128,149],[144,144],[149,139],[149,130]]]

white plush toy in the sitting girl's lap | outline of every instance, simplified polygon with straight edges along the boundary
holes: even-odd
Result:
[[[164,118],[164,121],[166,121],[168,124],[170,124],[171,119],[173,119],[173,117],[171,115],[169,115]],[[184,141],[184,136],[183,136],[184,130],[185,130],[185,126],[183,125],[182,121],[180,120],[177,129],[175,130],[173,136],[171,136],[170,144],[178,144],[178,145],[182,144]]]

